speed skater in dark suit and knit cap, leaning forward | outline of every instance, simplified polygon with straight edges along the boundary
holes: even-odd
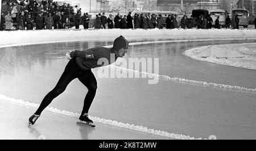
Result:
[[[71,52],[71,60],[65,67],[57,85],[46,95],[46,97],[44,97],[38,110],[30,117],[30,124],[35,123],[44,108],[46,108],[53,99],[63,93],[68,84],[75,78],[78,78],[88,89],[88,93],[84,99],[84,107],[82,108],[79,119],[93,123],[87,115],[97,90],[97,81],[91,69],[102,66],[97,64],[99,58],[106,58],[109,60],[109,63],[113,63],[118,57],[123,57],[125,53],[127,53],[128,45],[128,41],[123,36],[120,36],[115,39],[113,48],[101,47],[88,49],[86,51]],[[111,53],[113,53],[115,57],[114,60],[110,62]]]

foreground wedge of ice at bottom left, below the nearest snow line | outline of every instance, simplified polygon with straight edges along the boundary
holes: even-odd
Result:
[[[53,114],[48,111],[45,112],[44,118],[40,119],[40,123],[28,128],[27,116],[31,114],[34,108],[24,107],[3,100],[0,100],[0,104],[0,118],[5,121],[0,125],[1,139],[170,139],[168,137],[150,135],[100,123],[97,123],[96,128],[91,128],[76,124],[76,118]],[[10,114],[9,111],[13,112]]]

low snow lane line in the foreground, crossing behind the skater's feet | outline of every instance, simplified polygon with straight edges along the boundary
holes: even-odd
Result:
[[[10,98],[10,97],[7,97],[6,95],[2,95],[2,94],[0,94],[0,101],[1,100],[6,100],[7,102],[10,102],[10,103],[21,104],[21,105],[26,106],[26,107],[33,107],[33,108],[38,108],[39,107],[39,104],[27,102],[27,101],[22,100],[22,99]],[[79,118],[79,116],[80,116],[80,114],[78,114],[76,112],[59,110],[59,109],[54,108],[54,107],[47,107],[46,110],[50,111],[50,112],[53,112],[53,113],[56,113],[56,114],[70,116],[70,117],[73,117],[73,118]],[[115,120],[110,120],[110,119],[102,119],[102,118],[97,118],[97,117],[92,117],[92,116],[90,116],[90,118],[93,119],[94,121],[96,121],[97,123],[112,125],[114,127],[126,128],[126,129],[130,129],[130,130],[133,130],[133,131],[149,133],[149,134],[152,134],[152,135],[169,137],[171,139],[179,139],[179,140],[201,140],[201,139],[203,139],[201,137],[200,138],[195,138],[195,137],[191,137],[191,136],[188,136],[188,135],[182,135],[182,134],[170,133],[170,132],[156,130],[156,129],[150,129],[150,128],[144,127],[142,125],[122,123],[122,122],[115,121]]]

